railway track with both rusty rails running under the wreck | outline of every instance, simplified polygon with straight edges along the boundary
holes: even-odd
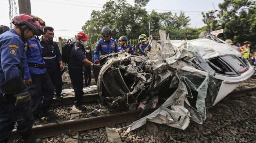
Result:
[[[232,98],[238,98],[245,96],[247,94],[256,93],[256,87],[246,88],[229,93],[223,100],[228,100]],[[99,95],[95,93],[87,93],[83,96],[83,102],[97,101]],[[64,100],[53,100],[54,105],[64,105],[64,104],[73,104],[74,96],[64,97]],[[56,123],[48,123],[44,125],[35,125],[33,126],[33,131],[38,138],[47,138],[51,136],[57,136],[64,132],[69,132],[69,130],[89,130],[96,129],[100,127],[105,127],[118,123],[125,123],[133,120],[138,120],[138,115],[142,110],[137,109],[134,111],[125,111],[121,113],[114,114],[105,114],[98,117],[92,118],[81,118],[75,120],[68,120]],[[152,113],[153,110],[149,111],[147,114]],[[12,143],[16,138],[19,138],[19,135],[16,133],[16,129],[12,131],[11,138],[8,143]]]

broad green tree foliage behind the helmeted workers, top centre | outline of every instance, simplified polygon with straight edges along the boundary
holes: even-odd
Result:
[[[85,22],[83,31],[89,37],[100,37],[102,27],[109,26],[112,30],[112,37],[118,39],[120,36],[127,36],[128,39],[138,39],[140,34],[158,34],[163,29],[169,33],[172,39],[191,39],[195,37],[196,30],[188,28],[189,16],[182,11],[180,15],[147,13],[145,6],[149,0],[134,0],[134,5],[128,4],[125,0],[109,0],[103,5],[101,11],[93,11],[91,19]],[[177,37],[174,37],[177,36]]]

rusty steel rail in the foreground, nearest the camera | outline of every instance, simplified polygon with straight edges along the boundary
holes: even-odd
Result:
[[[35,134],[35,137],[47,138],[65,133],[63,129],[65,129],[66,132],[69,132],[69,130],[82,131],[138,120],[138,115],[141,111],[141,109],[137,109],[134,111],[107,114],[94,118],[81,118],[58,123],[35,125],[33,126],[32,130]],[[147,114],[152,112],[153,110],[150,110]],[[17,138],[20,138],[20,136],[17,134],[16,129],[14,129],[11,132],[11,138],[9,138],[8,143],[12,143]]]

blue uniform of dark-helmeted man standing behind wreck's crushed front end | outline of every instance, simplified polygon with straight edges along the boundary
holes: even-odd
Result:
[[[94,50],[94,63],[96,63],[97,61],[100,60],[99,52],[100,52],[100,55],[107,55],[107,54],[110,54],[110,53],[117,53],[118,52],[118,47],[117,47],[116,40],[111,38],[110,41],[107,42],[104,39],[100,39],[96,43],[96,48]]]

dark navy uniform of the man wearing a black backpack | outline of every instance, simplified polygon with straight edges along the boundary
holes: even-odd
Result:
[[[84,45],[79,43],[78,41],[74,44],[73,48],[70,52],[70,59],[68,64],[69,69],[69,77],[71,79],[71,83],[74,88],[74,96],[75,96],[75,102],[74,104],[76,106],[79,106],[82,104],[82,95],[83,92],[83,65],[82,62],[84,59],[86,59],[86,56],[84,55],[85,48]]]

